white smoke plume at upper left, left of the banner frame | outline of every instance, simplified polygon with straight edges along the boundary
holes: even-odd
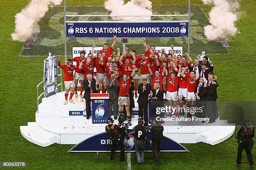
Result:
[[[40,32],[38,22],[44,17],[49,5],[59,5],[62,0],[31,0],[20,13],[15,15],[15,32],[11,34],[13,40],[26,41],[28,37],[36,36]]]

